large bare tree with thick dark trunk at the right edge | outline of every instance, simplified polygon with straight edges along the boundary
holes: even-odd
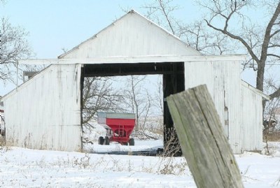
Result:
[[[207,25],[219,31],[221,34],[238,41],[251,57],[252,64],[256,64],[257,71],[256,88],[264,91],[265,66],[267,62],[279,61],[279,37],[280,37],[280,2],[266,4],[271,15],[265,28],[260,28],[252,24],[249,17],[245,15],[245,9],[253,6],[253,1],[197,1],[200,6],[209,10],[209,15],[205,20]],[[239,23],[239,24],[237,24]],[[219,25],[223,24],[223,27]],[[274,99],[280,96],[280,87],[269,94]],[[263,103],[265,106],[265,103]]]

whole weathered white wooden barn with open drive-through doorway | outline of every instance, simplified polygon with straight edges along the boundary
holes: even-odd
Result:
[[[94,75],[162,74],[164,97],[207,84],[235,154],[262,149],[262,99],[241,81],[242,55],[204,56],[131,10],[109,27],[3,96],[6,144],[43,150],[82,149],[83,78]],[[165,102],[165,129],[172,120]]]

